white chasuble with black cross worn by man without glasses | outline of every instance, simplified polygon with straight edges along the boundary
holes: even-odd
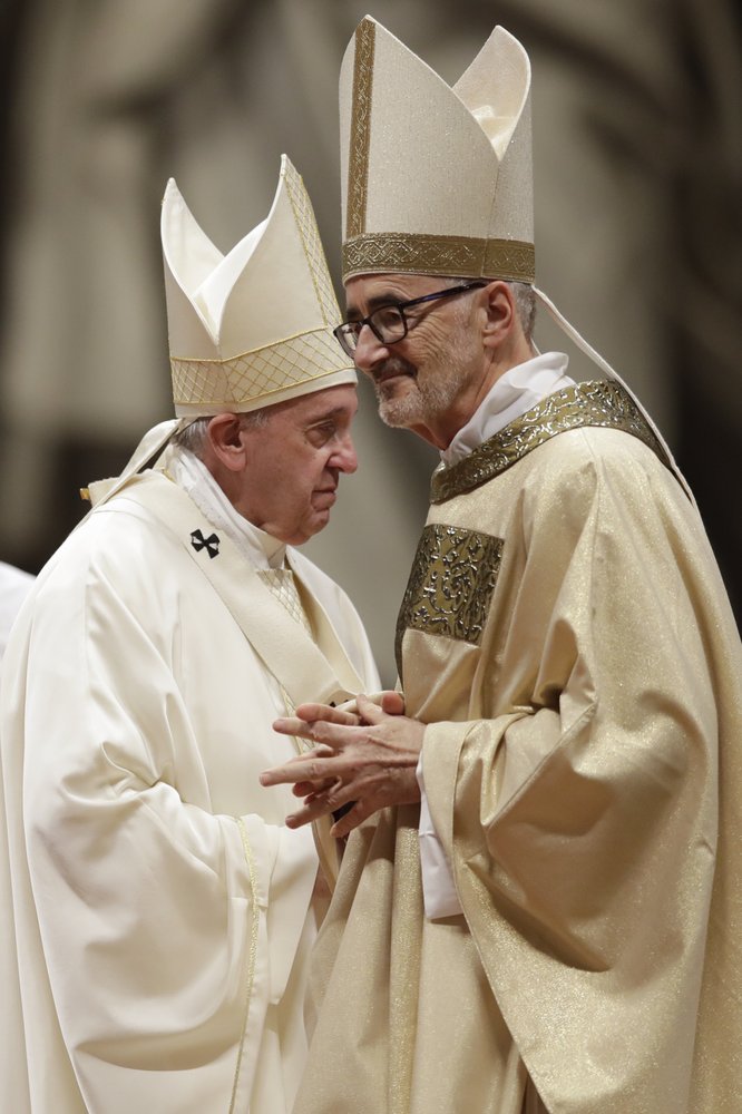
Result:
[[[316,646],[148,472],[40,575],[2,684],[3,1112],[291,1111],[318,853],[257,778],[295,753],[271,726],[284,690],[379,682],[345,595],[286,558]]]

